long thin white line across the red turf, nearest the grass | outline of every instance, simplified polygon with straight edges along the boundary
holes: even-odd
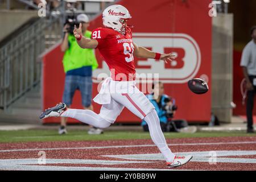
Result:
[[[256,141],[216,142],[216,143],[174,143],[174,144],[168,144],[168,146],[203,146],[203,145],[218,145],[218,144],[256,144]],[[0,150],[0,152],[41,151],[41,150],[88,150],[88,149],[100,149],[100,148],[130,148],[130,147],[156,147],[156,146],[155,144],[139,144],[139,145],[131,145],[131,146],[24,148],[24,149]]]

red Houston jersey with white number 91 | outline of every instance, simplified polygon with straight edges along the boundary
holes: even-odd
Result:
[[[112,28],[96,28],[92,39],[98,41],[98,50],[105,59],[113,80],[135,80],[134,46],[131,34],[122,35]]]

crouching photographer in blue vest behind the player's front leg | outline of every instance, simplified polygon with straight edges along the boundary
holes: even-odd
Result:
[[[152,85],[154,93],[148,94],[147,98],[154,105],[160,120],[160,126],[163,132],[170,131],[170,120],[174,117],[177,106],[175,100],[164,94],[164,86],[162,82],[156,82]],[[148,131],[148,125],[143,120],[142,127],[144,131]]]

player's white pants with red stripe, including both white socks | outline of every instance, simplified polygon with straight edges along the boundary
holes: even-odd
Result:
[[[166,161],[172,162],[175,155],[167,146],[155,108],[135,86],[135,82],[111,80],[109,91],[111,94],[110,103],[101,106],[100,114],[91,110],[67,109],[61,114],[61,117],[75,118],[94,127],[106,128],[115,122],[123,108],[126,107],[137,117],[147,122],[151,139],[162,152]]]

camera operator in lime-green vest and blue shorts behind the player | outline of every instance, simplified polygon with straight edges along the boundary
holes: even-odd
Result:
[[[88,31],[89,18],[85,14],[77,16],[77,22],[82,23],[82,35],[90,38],[92,32]],[[61,43],[61,51],[65,52],[63,57],[63,67],[65,72],[65,87],[63,93],[63,102],[69,107],[72,104],[75,91],[81,92],[82,105],[84,109],[93,110],[92,100],[92,71],[98,67],[93,49],[82,49],[76,42],[73,32],[70,31],[70,25],[64,26],[64,39]],[[67,118],[61,118],[59,134],[67,133]],[[101,134],[101,129],[91,127],[89,134]]]

